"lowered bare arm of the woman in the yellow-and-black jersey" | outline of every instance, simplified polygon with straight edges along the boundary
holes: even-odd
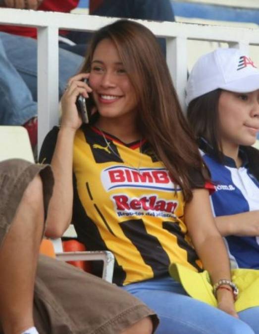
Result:
[[[193,199],[185,207],[185,223],[195,250],[208,271],[212,284],[221,279],[231,280],[227,251],[219,234],[210,208],[206,189],[193,191]],[[217,290],[218,308],[238,317],[232,291]]]

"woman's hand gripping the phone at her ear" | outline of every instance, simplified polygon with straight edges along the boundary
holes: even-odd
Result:
[[[88,79],[89,75],[89,73],[80,73],[69,79],[67,88],[61,97],[61,127],[69,127],[76,131],[82,125],[82,118],[78,113],[76,101],[79,95],[86,99],[89,98],[92,89],[86,82],[82,81]]]

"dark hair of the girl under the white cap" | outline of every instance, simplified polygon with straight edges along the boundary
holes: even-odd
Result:
[[[187,108],[187,119],[196,139],[206,139],[213,147],[215,157],[222,163],[223,153],[218,133],[218,101],[221,92],[221,89],[216,89],[192,100]],[[243,145],[240,148],[247,154],[249,171],[259,180],[259,150]]]

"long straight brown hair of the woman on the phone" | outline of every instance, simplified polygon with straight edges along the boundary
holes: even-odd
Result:
[[[103,39],[110,39],[116,46],[135,88],[139,129],[189,201],[192,188],[202,187],[208,174],[155,35],[142,24],[129,20],[104,26],[93,35],[82,72],[90,71],[95,48]],[[199,182],[193,180],[194,174],[199,174]]]

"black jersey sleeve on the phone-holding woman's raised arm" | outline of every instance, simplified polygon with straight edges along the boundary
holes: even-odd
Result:
[[[59,128],[55,126],[45,137],[42,147],[41,147],[40,156],[39,156],[40,163],[49,163],[49,164],[51,163],[55,145],[56,145],[58,131],[59,131]]]

